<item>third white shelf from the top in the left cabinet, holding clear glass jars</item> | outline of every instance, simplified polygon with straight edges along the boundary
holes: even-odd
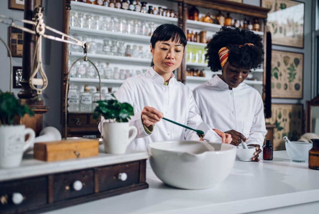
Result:
[[[82,52],[70,52],[70,56],[74,57],[84,57]],[[135,58],[135,57],[122,57],[122,56],[113,56],[113,55],[105,55],[105,54],[87,54],[89,58],[95,59],[108,59],[115,62],[128,62],[128,63],[149,63],[151,64],[151,59],[144,58]]]

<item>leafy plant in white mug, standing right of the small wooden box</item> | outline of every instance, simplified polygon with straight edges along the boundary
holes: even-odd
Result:
[[[114,95],[112,95],[114,97]],[[137,128],[129,125],[130,116],[134,115],[130,103],[120,103],[116,99],[99,100],[94,109],[93,118],[103,116],[105,121],[101,124],[101,133],[105,152],[123,154],[129,142],[137,135]],[[130,131],[133,131],[129,137]]]

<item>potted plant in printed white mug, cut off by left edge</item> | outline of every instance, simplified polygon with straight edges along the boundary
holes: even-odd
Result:
[[[19,166],[23,152],[33,144],[33,129],[13,125],[15,116],[25,114],[33,116],[34,112],[27,105],[21,105],[13,94],[0,90],[0,167]],[[26,134],[29,135],[27,141]]]

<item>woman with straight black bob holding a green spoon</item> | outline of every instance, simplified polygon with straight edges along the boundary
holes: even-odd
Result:
[[[130,143],[130,149],[146,150],[146,146],[155,141],[199,140],[193,131],[166,120],[160,121],[166,117],[193,128],[203,122],[196,113],[192,91],[173,74],[182,63],[186,44],[180,27],[172,24],[157,27],[151,37],[152,67],[125,80],[115,92],[119,102],[130,103],[134,109],[129,122],[137,127],[137,137]],[[208,136],[213,141],[231,141],[230,134],[226,138],[220,130],[210,129],[210,132]]]

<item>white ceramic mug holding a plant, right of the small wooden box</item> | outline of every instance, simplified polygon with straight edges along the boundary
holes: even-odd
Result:
[[[129,137],[130,131],[133,131]],[[103,123],[102,135],[106,153],[123,154],[137,135],[137,128],[126,123]]]

